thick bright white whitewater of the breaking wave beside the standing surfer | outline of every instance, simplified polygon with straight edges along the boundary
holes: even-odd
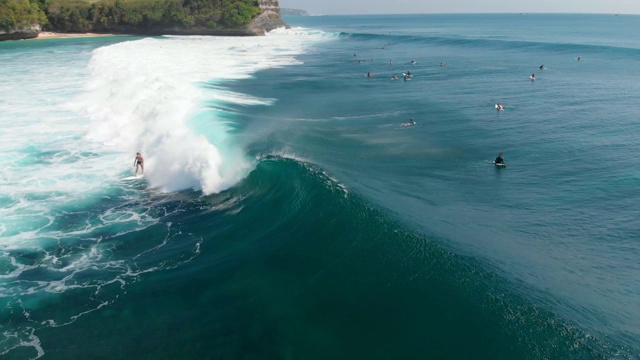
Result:
[[[79,103],[91,119],[88,138],[130,155],[131,163],[142,152],[145,178],[163,191],[225,190],[253,164],[228,132],[222,110],[205,102],[269,104],[222,85],[297,64],[304,43],[326,38],[282,29],[265,37],[148,38],[97,49]],[[205,82],[209,86],[200,86]]]

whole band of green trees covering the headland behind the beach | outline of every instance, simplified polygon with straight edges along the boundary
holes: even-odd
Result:
[[[240,28],[258,14],[256,0],[0,0],[0,30],[33,23],[59,32]]]

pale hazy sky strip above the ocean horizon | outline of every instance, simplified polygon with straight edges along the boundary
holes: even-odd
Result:
[[[279,0],[311,15],[429,13],[640,14],[640,0]]]

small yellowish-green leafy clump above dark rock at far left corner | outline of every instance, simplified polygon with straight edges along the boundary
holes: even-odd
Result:
[[[37,2],[0,0],[0,31],[9,32],[46,23],[47,17]]]

